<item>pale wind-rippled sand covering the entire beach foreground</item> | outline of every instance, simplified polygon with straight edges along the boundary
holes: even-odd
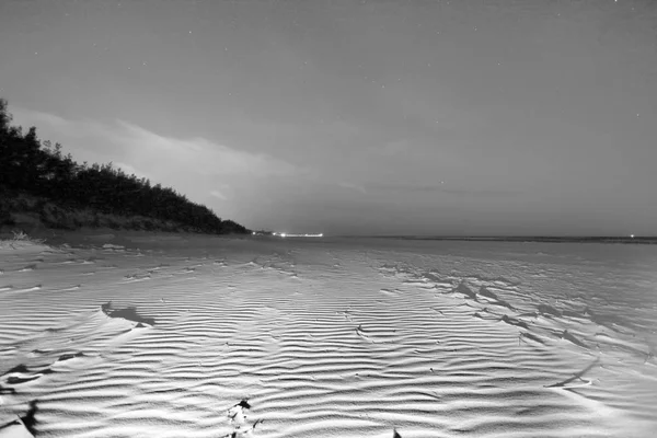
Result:
[[[3,438],[657,430],[653,245],[61,242],[0,246]]]

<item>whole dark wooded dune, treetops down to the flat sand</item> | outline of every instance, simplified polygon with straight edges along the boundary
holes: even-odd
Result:
[[[250,232],[173,188],[127,175],[112,163],[77,163],[70,153],[62,154],[59,143],[42,143],[35,127],[23,134],[21,127],[11,126],[7,108],[0,99],[0,226],[13,224],[14,214],[27,211],[38,214],[49,228]]]

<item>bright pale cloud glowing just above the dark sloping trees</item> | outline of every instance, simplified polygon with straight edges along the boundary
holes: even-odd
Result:
[[[151,184],[171,186],[198,203],[221,201],[233,217],[263,198],[312,181],[312,172],[280,158],[231,148],[203,137],[164,136],[127,120],[101,123],[12,108],[14,123],[37,127],[39,138],[62,143],[78,162],[113,162]],[[237,218],[239,219],[239,218]]]

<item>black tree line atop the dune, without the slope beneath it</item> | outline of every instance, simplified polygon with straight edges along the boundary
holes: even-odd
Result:
[[[112,163],[77,163],[61,145],[43,143],[36,128],[23,132],[11,125],[8,103],[0,99],[0,189],[23,192],[68,208],[92,208],[117,216],[172,221],[207,233],[246,233],[243,226],[221,220],[208,207],[147,178],[126,174]]]

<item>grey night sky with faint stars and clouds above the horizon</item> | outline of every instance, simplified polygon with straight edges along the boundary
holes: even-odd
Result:
[[[0,96],[251,229],[657,235],[653,0],[0,0]]]

